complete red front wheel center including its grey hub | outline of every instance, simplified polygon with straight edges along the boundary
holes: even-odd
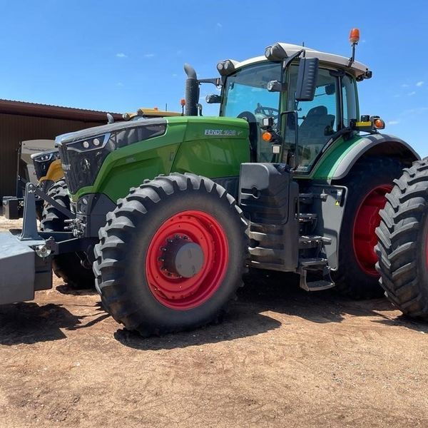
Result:
[[[228,238],[213,215],[185,210],[153,234],[146,254],[146,279],[166,307],[190,310],[218,290],[228,269]]]

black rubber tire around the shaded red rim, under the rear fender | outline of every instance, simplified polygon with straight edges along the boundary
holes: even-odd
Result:
[[[370,299],[383,295],[379,275],[375,270],[376,257],[372,253],[372,266],[360,263],[354,245],[354,225],[357,213],[373,189],[392,187],[394,178],[402,175],[402,164],[392,158],[367,157],[359,161],[350,173],[340,180],[348,188],[347,205],[342,220],[339,243],[338,269],[332,272],[336,290],[352,299]],[[374,235],[374,228],[372,230]],[[373,244],[374,248],[374,244]]]

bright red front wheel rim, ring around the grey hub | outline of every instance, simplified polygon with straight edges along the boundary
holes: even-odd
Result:
[[[203,265],[193,277],[180,277],[165,269],[165,245],[177,237],[196,243],[202,249]],[[156,300],[166,307],[175,310],[198,307],[220,287],[228,269],[228,260],[228,239],[212,215],[199,210],[177,213],[161,225],[148,245],[148,287]]]

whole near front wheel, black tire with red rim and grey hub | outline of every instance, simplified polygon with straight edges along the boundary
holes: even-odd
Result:
[[[143,336],[219,320],[243,283],[245,228],[235,199],[208,178],[173,173],[131,188],[95,246],[104,307]],[[199,262],[180,265],[183,248]]]

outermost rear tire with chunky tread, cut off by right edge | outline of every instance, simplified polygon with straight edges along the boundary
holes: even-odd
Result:
[[[428,159],[405,168],[380,212],[377,270],[405,315],[428,320]]]

